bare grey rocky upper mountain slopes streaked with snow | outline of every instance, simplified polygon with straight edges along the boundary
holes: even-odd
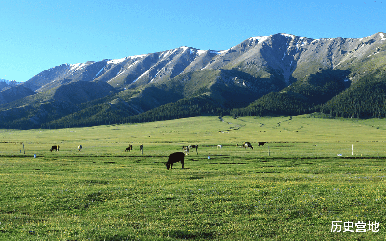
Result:
[[[359,65],[384,57],[386,33],[365,38],[313,39],[291,34],[252,37],[227,50],[192,47],[123,59],[62,64],[23,83],[37,92],[77,80],[104,81],[124,90],[162,82],[180,74],[204,69],[239,70],[258,79],[276,79],[289,85],[318,69],[352,69],[350,79],[361,74]],[[248,80],[245,80],[248,81]]]

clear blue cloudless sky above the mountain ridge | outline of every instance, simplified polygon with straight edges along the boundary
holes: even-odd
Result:
[[[386,32],[385,9],[384,1],[347,0],[3,1],[0,79],[180,46],[225,50],[276,33],[367,37]]]

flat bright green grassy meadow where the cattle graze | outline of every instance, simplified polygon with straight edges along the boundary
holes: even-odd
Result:
[[[310,114],[2,129],[0,241],[384,240],[385,124]],[[198,154],[166,170],[186,144]]]

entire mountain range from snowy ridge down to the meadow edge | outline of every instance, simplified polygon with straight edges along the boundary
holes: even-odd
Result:
[[[280,33],[221,51],[178,47],[62,64],[12,87],[12,96],[0,92],[1,127],[91,126],[201,114],[322,111],[385,117],[385,40],[385,33],[328,39]],[[58,107],[59,102],[71,108]],[[36,105],[41,107],[31,108]],[[177,113],[179,105],[186,108]],[[58,110],[42,117],[50,112],[46,107]],[[24,114],[11,114],[16,112]]]

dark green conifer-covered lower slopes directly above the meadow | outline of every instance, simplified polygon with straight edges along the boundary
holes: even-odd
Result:
[[[51,109],[41,119],[43,124],[31,121],[35,113],[31,109],[28,111],[27,117],[17,120],[7,120],[3,117],[0,128],[56,129],[88,127],[163,121],[203,114],[231,115],[237,118],[240,116],[300,115],[322,112],[330,114],[332,117],[344,118],[386,117],[386,74],[384,72],[379,70],[368,74],[349,88],[342,85],[342,79],[339,82],[331,78],[323,80],[321,83],[308,85],[309,82],[307,81],[295,82],[283,89],[282,92],[271,92],[246,107],[234,109],[223,107],[207,95],[187,97],[141,114],[132,113],[132,110],[125,109],[124,105],[112,107],[109,103],[99,105],[80,104],[78,108],[81,110],[59,118],[55,114],[57,107],[45,107]],[[63,109],[65,108],[63,107]]]

